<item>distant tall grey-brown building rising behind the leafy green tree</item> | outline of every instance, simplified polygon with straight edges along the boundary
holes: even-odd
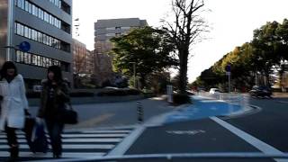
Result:
[[[97,20],[94,23],[94,53],[96,73],[100,83],[110,81],[113,82],[112,71],[112,56],[108,53],[112,49],[112,42],[110,39],[127,33],[132,28],[140,28],[147,26],[146,20],[140,20],[139,18],[127,18],[127,19],[103,19]]]

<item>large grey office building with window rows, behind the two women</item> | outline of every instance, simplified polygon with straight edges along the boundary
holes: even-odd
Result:
[[[28,87],[58,65],[72,82],[72,0],[0,0],[0,64],[12,60]],[[30,50],[19,44],[29,42]]]

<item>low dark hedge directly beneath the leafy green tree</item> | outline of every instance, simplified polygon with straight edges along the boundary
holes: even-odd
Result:
[[[98,96],[121,96],[121,95],[138,95],[140,92],[136,89],[112,89],[98,93]]]

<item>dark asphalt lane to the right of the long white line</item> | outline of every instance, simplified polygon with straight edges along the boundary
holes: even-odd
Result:
[[[288,152],[288,98],[252,98],[250,103],[262,111],[227,121],[274,148]]]

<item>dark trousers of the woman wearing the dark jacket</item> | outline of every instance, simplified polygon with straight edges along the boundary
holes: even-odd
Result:
[[[46,119],[46,126],[49,132],[49,138],[54,155],[62,154],[61,133],[64,129],[64,124],[54,120]]]

